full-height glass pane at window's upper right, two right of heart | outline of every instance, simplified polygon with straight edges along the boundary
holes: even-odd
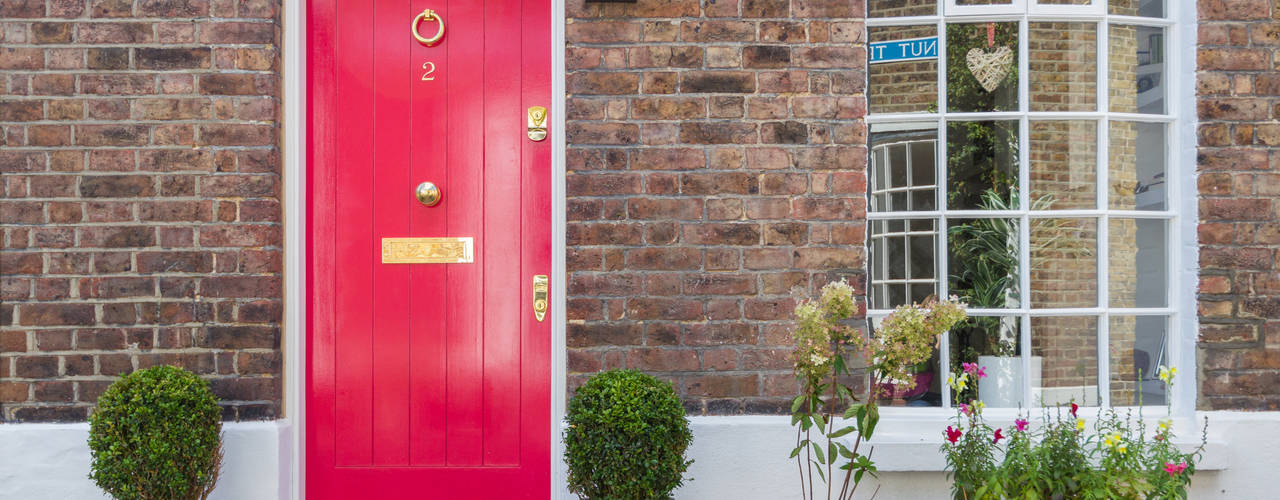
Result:
[[[1165,28],[1111,26],[1111,111],[1165,113]]]

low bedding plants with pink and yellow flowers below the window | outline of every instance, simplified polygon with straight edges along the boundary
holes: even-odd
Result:
[[[1176,373],[1161,367],[1166,387]],[[984,376],[986,367],[965,363],[948,382],[961,394]],[[956,408],[942,442],[955,499],[1185,499],[1204,449],[1204,431],[1190,453],[1174,445],[1167,417],[1148,432],[1140,407],[1137,418],[1100,412],[1092,432],[1075,403],[1047,410],[1038,428],[1021,416],[992,428],[980,400],[957,399]]]

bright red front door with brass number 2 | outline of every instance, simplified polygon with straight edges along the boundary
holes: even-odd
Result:
[[[550,106],[549,0],[308,18],[307,497],[545,499],[550,141],[527,114]]]

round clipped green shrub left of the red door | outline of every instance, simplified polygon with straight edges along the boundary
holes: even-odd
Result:
[[[157,366],[108,387],[90,417],[90,478],[118,500],[207,499],[221,468],[221,410],[209,384]]]

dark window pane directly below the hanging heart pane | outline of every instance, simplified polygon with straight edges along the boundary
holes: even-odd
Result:
[[[947,123],[946,151],[947,208],[1018,208],[1018,121]]]

